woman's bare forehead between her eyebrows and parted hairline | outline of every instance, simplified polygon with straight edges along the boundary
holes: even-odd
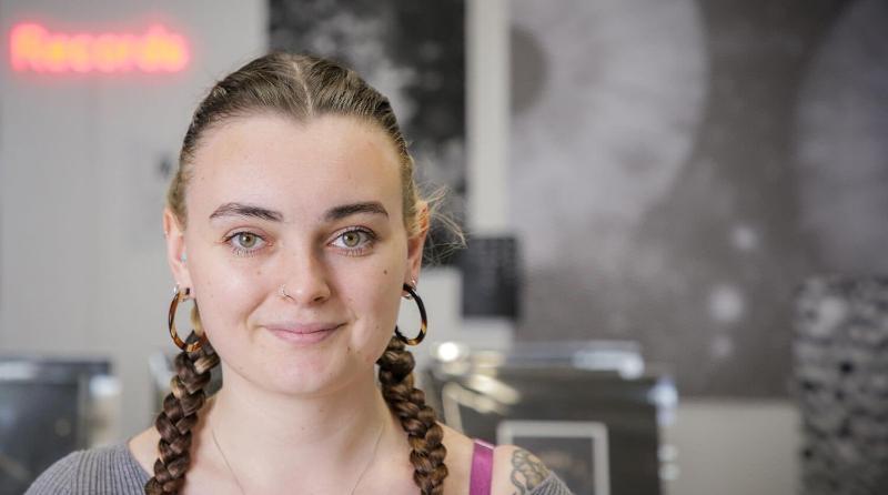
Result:
[[[230,119],[202,137],[192,166],[189,216],[206,218],[232,201],[272,208],[285,218],[379,201],[392,216],[401,215],[395,147],[376,125],[355,118]]]

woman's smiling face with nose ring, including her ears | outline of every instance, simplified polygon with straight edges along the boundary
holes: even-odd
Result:
[[[205,132],[193,172],[185,231],[164,215],[169,262],[226,372],[287,394],[366,376],[424,239],[404,228],[389,137],[345,117],[234,118]]]

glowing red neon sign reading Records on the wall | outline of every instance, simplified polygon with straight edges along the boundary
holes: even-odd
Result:
[[[60,33],[37,23],[12,27],[17,72],[179,72],[189,62],[185,39],[160,24],[141,34]]]

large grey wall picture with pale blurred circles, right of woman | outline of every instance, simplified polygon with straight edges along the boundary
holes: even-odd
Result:
[[[888,271],[888,3],[555,3],[513,2],[518,337],[787,396],[796,287]]]

